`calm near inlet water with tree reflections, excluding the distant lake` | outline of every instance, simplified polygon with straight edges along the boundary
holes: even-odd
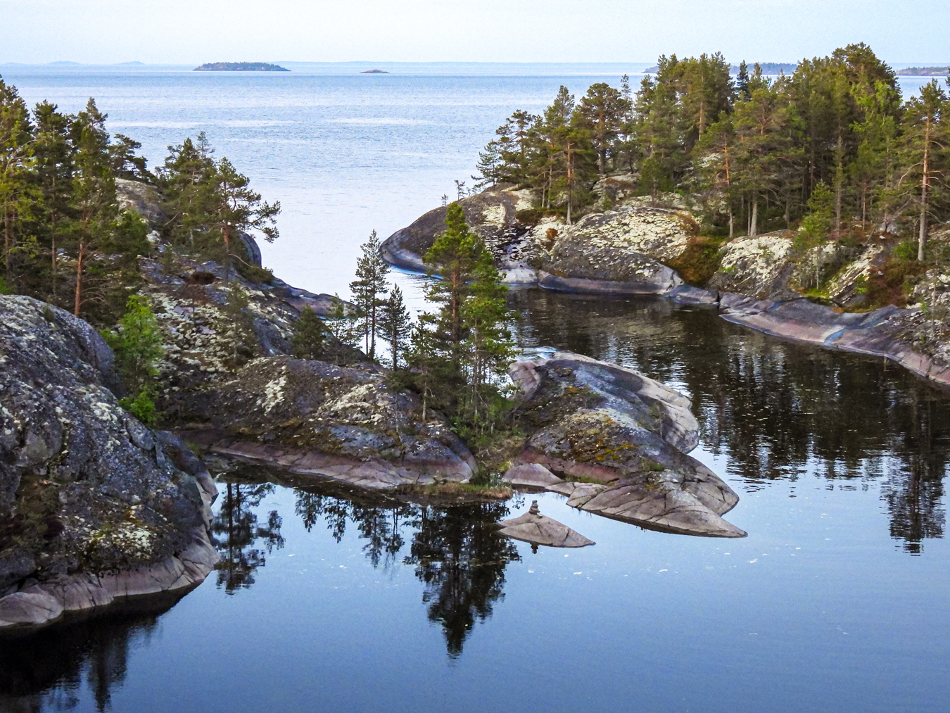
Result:
[[[524,346],[693,398],[739,492],[719,540],[539,497],[598,544],[245,468],[180,599],[0,640],[0,710],[948,711],[950,400],[881,361],[662,299],[512,294]]]

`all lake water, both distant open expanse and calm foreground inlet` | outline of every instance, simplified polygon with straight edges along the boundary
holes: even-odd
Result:
[[[470,185],[512,110],[622,71],[295,69],[0,73],[30,104],[96,97],[153,166],[205,130],[283,204],[264,264],[346,296],[360,242]],[[421,308],[421,279],[397,279]],[[553,494],[439,509],[244,468],[219,484],[217,572],[181,598],[0,641],[0,710],[950,711],[946,395],[669,300],[510,301],[523,346],[689,395],[693,455],[739,493],[727,519],[749,537],[641,530]],[[499,537],[491,524],[535,498],[597,545]]]

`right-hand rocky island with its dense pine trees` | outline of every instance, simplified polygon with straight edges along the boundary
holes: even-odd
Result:
[[[663,294],[950,383],[950,104],[865,45],[790,75],[661,57],[514,111],[457,198],[505,280]],[[480,192],[481,191],[481,192]],[[424,269],[446,208],[383,242]]]

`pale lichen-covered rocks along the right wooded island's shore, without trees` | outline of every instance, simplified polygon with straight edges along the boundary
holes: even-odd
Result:
[[[886,358],[936,386],[950,387],[945,323],[933,321],[921,306],[845,311],[860,307],[864,285],[881,275],[887,241],[893,242],[889,234],[857,248],[826,244],[804,250],[796,247],[791,231],[736,238],[719,249],[718,266],[700,287],[686,284],[671,267],[696,240],[698,226],[685,206],[656,207],[627,198],[566,225],[533,210],[530,198],[527,191],[499,186],[461,201],[467,221],[509,284],[709,305],[722,318],[771,336]],[[393,233],[383,242],[384,259],[425,271],[422,255],[441,231],[445,212],[436,208]],[[935,230],[931,240],[950,241],[950,226]],[[830,304],[796,291],[809,283],[813,270],[839,262],[829,279]],[[932,298],[931,311],[950,308],[950,273],[934,269],[923,278],[909,299]]]

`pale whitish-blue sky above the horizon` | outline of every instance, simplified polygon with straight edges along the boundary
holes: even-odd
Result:
[[[865,42],[891,64],[938,64],[950,63],[945,33],[932,31],[946,10],[946,0],[0,0],[0,63],[653,62],[716,50],[795,62]]]

